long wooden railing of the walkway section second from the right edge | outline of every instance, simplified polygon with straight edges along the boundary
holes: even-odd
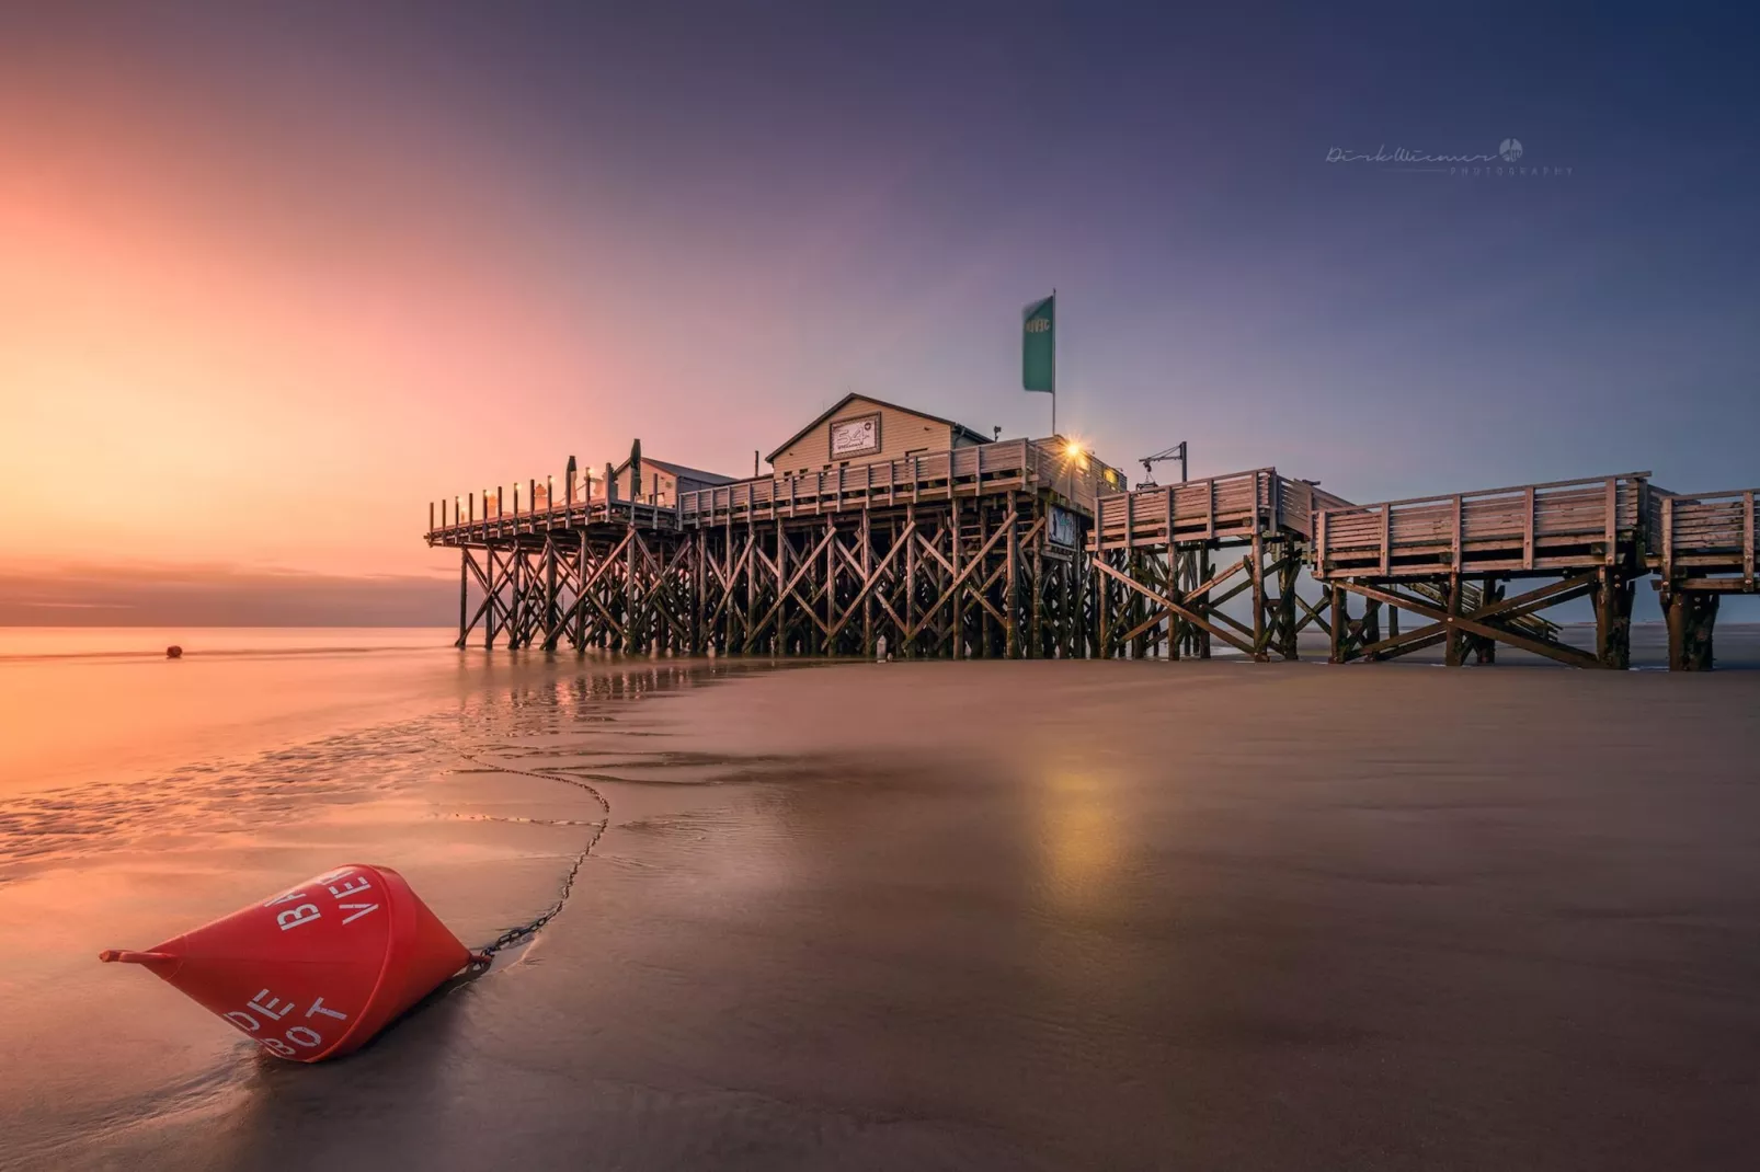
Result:
[[[1647,472],[1318,509],[1313,574],[1426,577],[1617,565],[1651,551]]]

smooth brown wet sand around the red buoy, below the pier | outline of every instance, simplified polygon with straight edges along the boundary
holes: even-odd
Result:
[[[0,1135],[72,1168],[1751,1167],[1756,702],[1751,672],[533,663],[12,859],[0,927],[42,959],[0,985],[32,1056]],[[338,852],[480,943],[597,818],[535,943],[340,1063],[83,959]]]

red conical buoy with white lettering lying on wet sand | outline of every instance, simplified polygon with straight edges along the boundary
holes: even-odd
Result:
[[[276,1058],[348,1054],[472,954],[391,868],[352,862],[146,952],[144,964]]]

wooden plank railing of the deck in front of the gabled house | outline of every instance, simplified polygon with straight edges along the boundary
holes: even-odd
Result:
[[[730,521],[892,509],[1010,489],[1045,489],[1060,498],[1060,503],[1093,516],[1095,500],[1105,484],[1102,466],[1098,461],[1077,461],[1047,452],[1030,440],[1005,440],[922,452],[878,465],[792,477],[757,477],[681,493],[678,516],[685,528],[702,528]]]

